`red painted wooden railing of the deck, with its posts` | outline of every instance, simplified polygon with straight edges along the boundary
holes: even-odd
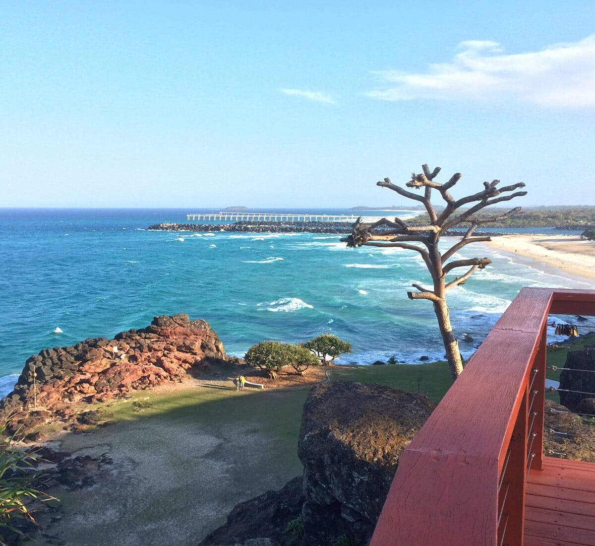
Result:
[[[401,455],[370,546],[522,545],[549,313],[593,316],[595,291],[522,289]]]

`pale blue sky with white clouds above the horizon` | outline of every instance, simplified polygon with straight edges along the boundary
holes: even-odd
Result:
[[[595,205],[594,114],[592,0],[0,2],[4,207]]]

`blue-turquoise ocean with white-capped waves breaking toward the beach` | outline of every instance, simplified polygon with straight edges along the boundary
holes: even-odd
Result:
[[[406,295],[412,282],[430,280],[417,252],[347,249],[340,235],[146,230],[155,223],[185,223],[187,213],[203,211],[216,212],[0,209],[0,395],[12,389],[14,374],[30,355],[111,338],[161,314],[205,319],[228,354],[240,356],[264,339],[299,342],[324,332],[352,343],[353,354],[342,363],[396,355],[414,364],[422,355],[443,356],[430,302]],[[523,286],[593,288],[481,244],[461,255],[493,260],[449,292],[455,333],[475,340],[461,344],[466,356]]]

